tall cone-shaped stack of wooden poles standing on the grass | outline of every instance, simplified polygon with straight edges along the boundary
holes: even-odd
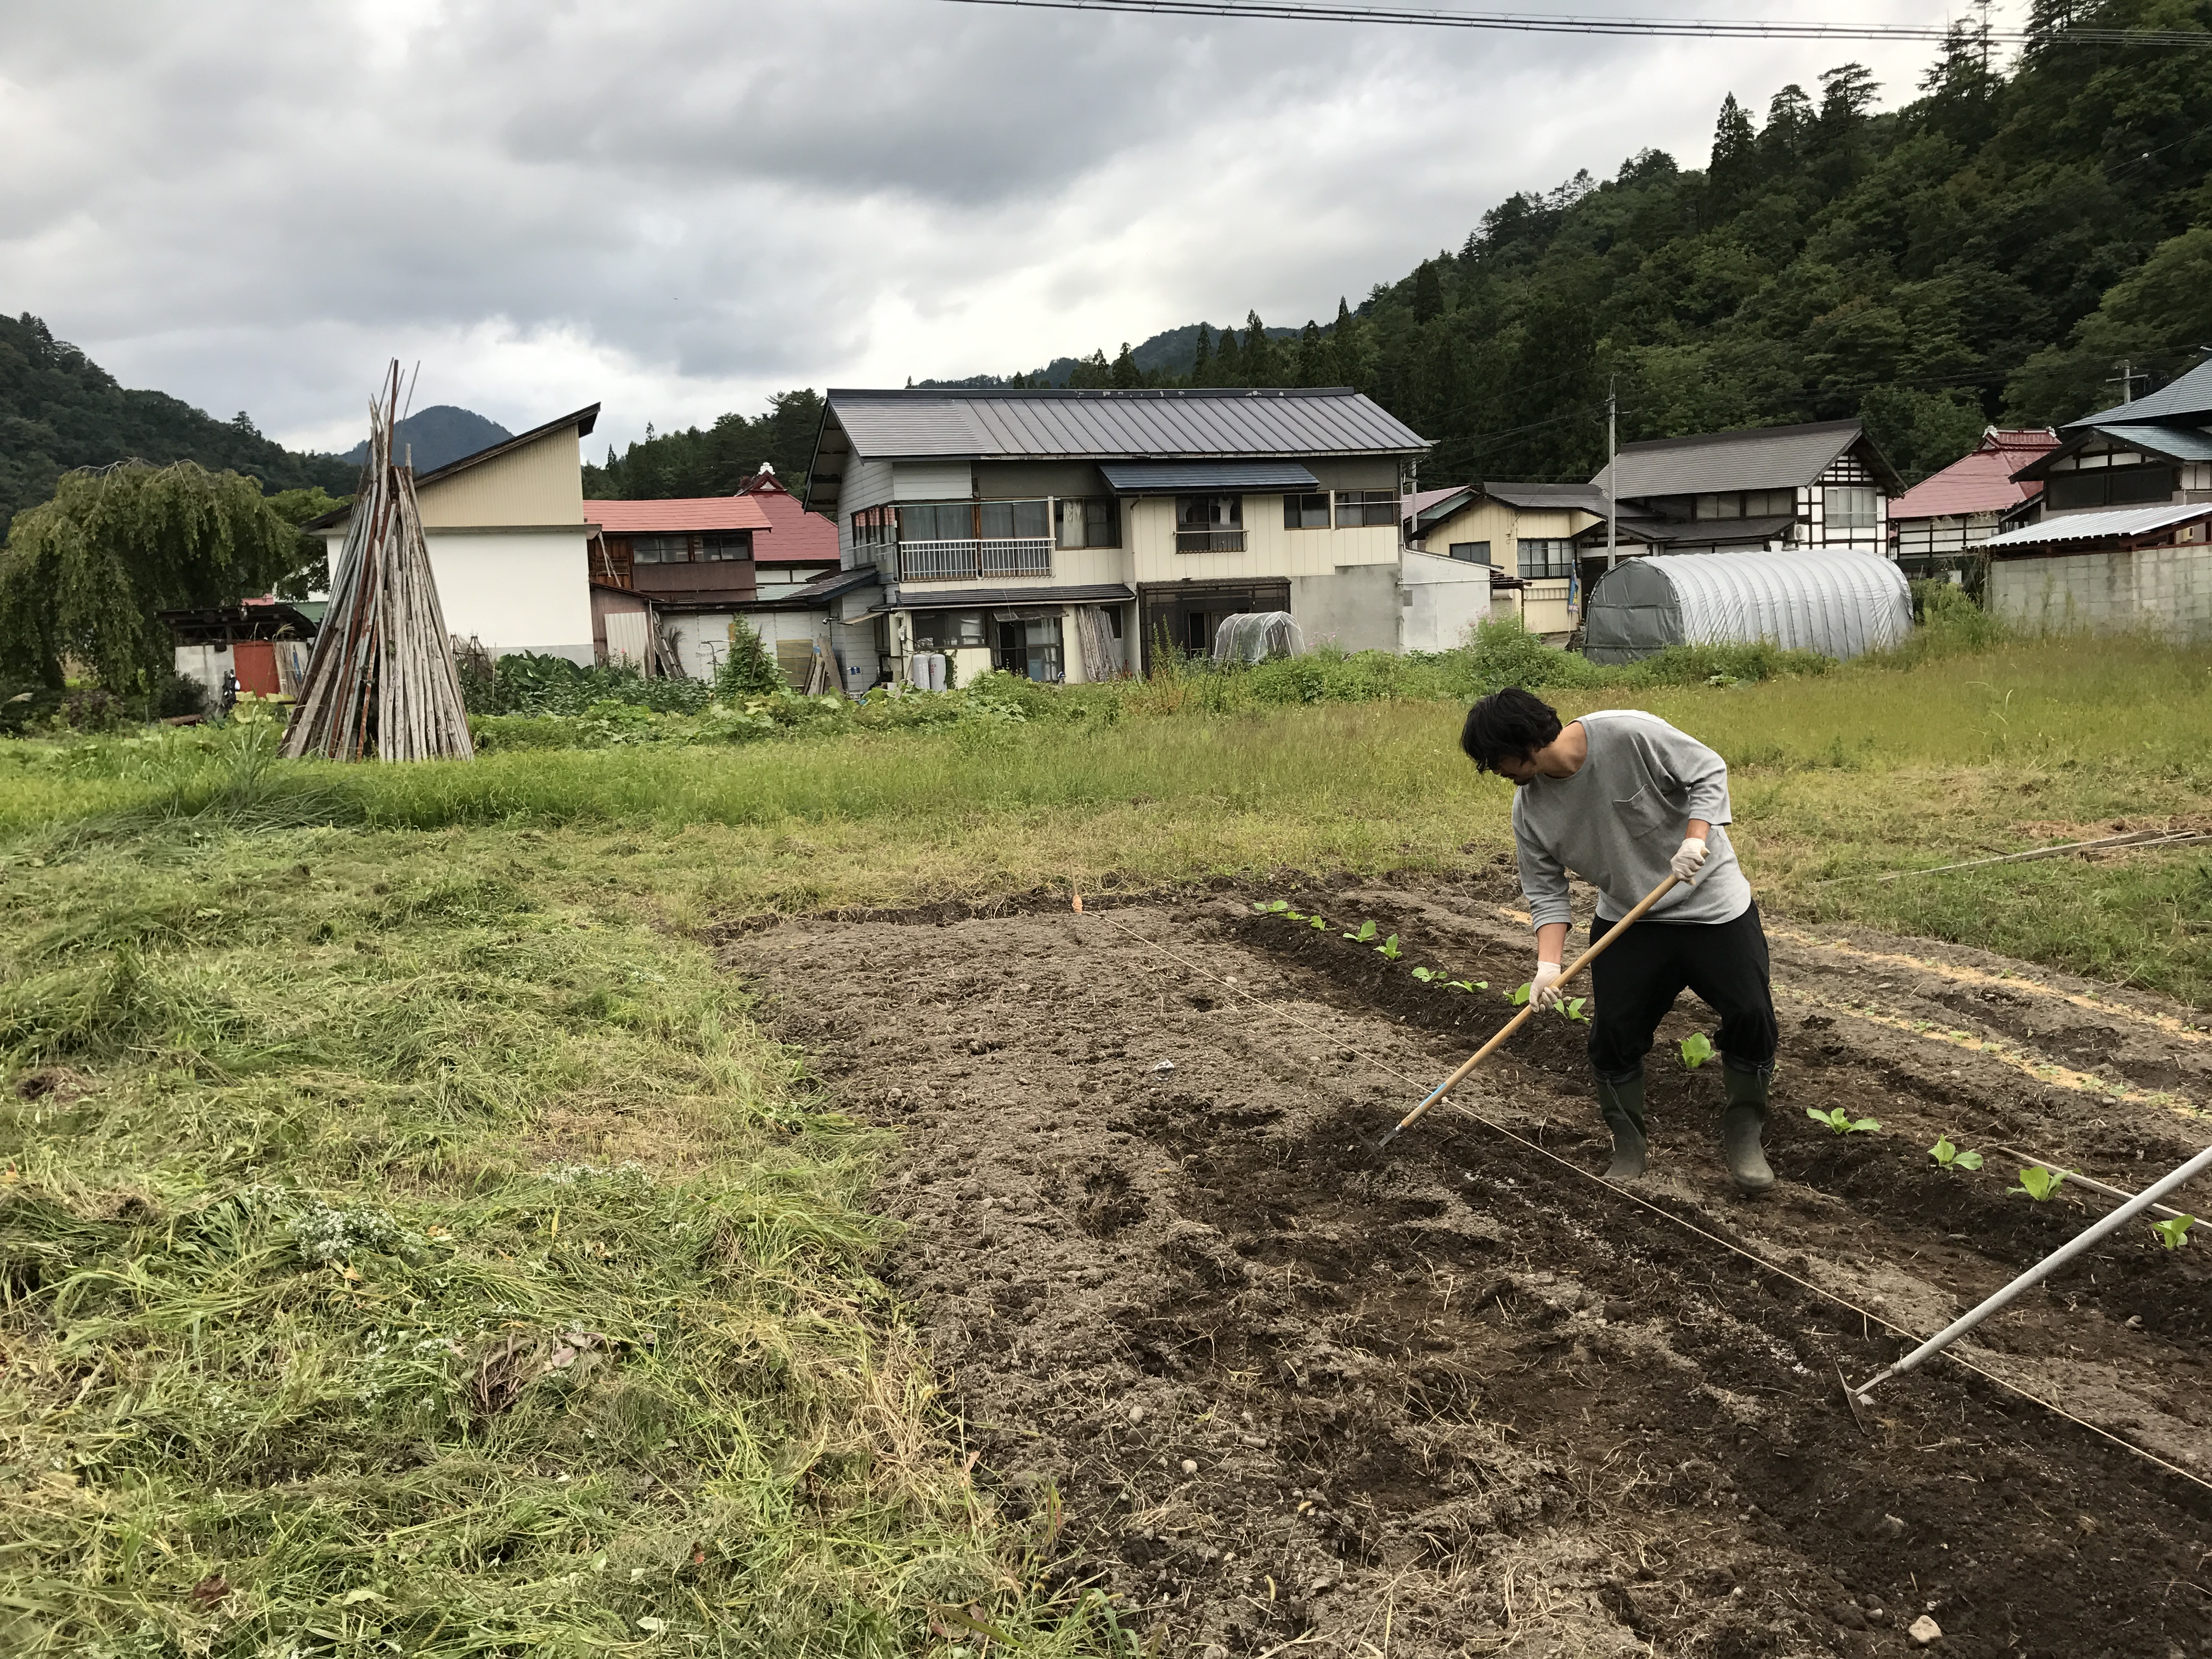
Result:
[[[330,575],[330,608],[283,752],[290,759],[473,759],[453,641],[422,540],[414,467],[394,462],[400,365],[369,403],[369,460]]]

